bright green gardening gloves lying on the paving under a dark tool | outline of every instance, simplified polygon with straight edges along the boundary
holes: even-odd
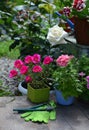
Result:
[[[42,111],[42,109],[45,109],[48,107],[48,105],[44,105],[39,107],[41,111],[28,111],[23,114],[21,114],[21,118],[24,118],[25,121],[33,121],[33,122],[44,122],[48,123],[49,120],[55,120],[56,119],[56,111],[55,111],[55,103],[53,101],[50,102],[50,106],[54,109],[51,111]]]

